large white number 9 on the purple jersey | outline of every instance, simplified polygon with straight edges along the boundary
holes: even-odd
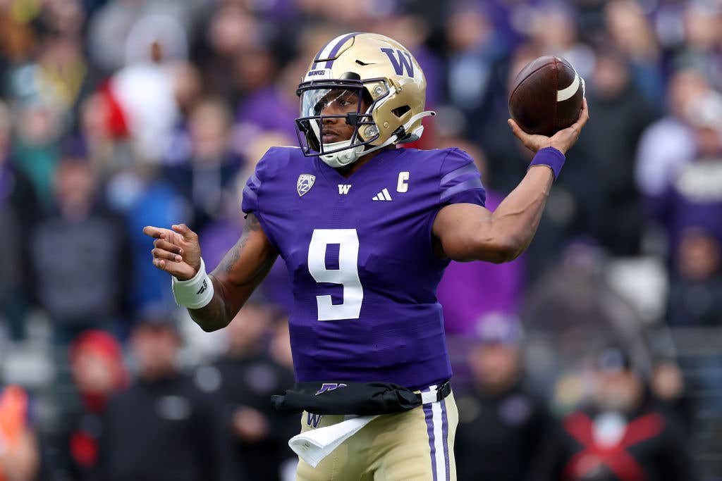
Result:
[[[339,244],[339,268],[326,269],[326,248]],[[359,237],[356,229],[313,229],[308,246],[308,271],[316,282],[342,284],[344,301],[331,304],[331,296],[316,296],[319,321],[358,319],[363,288],[359,279]]]

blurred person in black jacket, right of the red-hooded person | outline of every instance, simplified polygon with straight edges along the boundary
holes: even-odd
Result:
[[[222,405],[179,369],[170,316],[143,319],[130,345],[137,379],[108,404],[100,479],[237,481]]]

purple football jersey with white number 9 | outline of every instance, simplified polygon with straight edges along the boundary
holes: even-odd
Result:
[[[484,206],[459,149],[383,151],[346,178],[293,147],[270,149],[243,190],[290,272],[297,381],[384,381],[412,389],[451,377],[432,253],[443,206]]]

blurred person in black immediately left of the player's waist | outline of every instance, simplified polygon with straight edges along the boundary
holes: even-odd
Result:
[[[297,431],[297,416],[279,415],[271,394],[294,384],[293,371],[269,356],[274,309],[247,304],[228,326],[228,348],[214,363],[226,405],[228,428],[244,479],[279,480],[282,461],[290,453],[288,440]]]

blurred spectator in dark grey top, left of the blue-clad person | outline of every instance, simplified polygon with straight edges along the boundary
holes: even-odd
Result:
[[[130,251],[122,218],[98,198],[82,145],[66,146],[53,186],[53,211],[29,241],[35,296],[52,319],[56,342],[67,345],[82,330],[121,324]]]

